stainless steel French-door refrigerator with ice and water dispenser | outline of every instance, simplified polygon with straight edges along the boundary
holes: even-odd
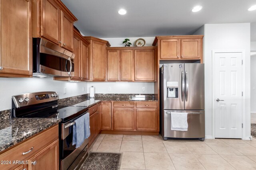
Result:
[[[163,64],[160,68],[160,133],[204,141],[204,64]],[[188,131],[171,130],[171,114],[188,113]]]

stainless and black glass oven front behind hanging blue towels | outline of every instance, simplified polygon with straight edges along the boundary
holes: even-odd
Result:
[[[79,115],[81,117],[84,114],[89,114],[88,111]],[[73,141],[73,126],[75,124],[75,119],[62,123],[61,125],[61,136],[60,136],[60,169],[66,170],[70,165],[76,160],[79,154],[86,148],[88,145],[89,139],[85,139],[84,143],[76,148],[76,145],[72,145]]]

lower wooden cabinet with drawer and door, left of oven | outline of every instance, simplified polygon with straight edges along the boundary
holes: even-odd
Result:
[[[17,144],[0,153],[0,160],[11,164],[0,164],[0,170],[59,170],[58,125]],[[19,161],[23,164],[13,164]]]

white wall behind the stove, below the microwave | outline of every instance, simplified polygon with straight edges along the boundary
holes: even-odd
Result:
[[[64,87],[67,88],[66,94]],[[60,98],[68,98],[87,94],[87,82],[63,82],[52,78],[0,78],[0,111],[11,109],[12,96],[38,91],[56,91]]]

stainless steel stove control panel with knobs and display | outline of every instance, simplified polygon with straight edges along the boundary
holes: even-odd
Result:
[[[32,105],[32,104],[40,104],[40,103],[44,103],[44,102],[50,102],[50,101],[54,101],[54,100],[58,100],[59,97],[51,97],[51,94],[56,93],[56,92],[35,92],[35,93],[26,93],[26,94],[20,94],[17,96],[12,96],[12,101],[14,102],[16,108],[18,107],[22,107],[22,106],[28,106],[28,105]],[[41,94],[48,94],[48,96],[50,97],[49,99],[45,99],[45,100],[36,100],[36,95],[41,95]],[[28,98],[28,102],[22,102],[20,103],[18,100],[20,100],[20,98],[22,98],[22,100],[24,98]]]

